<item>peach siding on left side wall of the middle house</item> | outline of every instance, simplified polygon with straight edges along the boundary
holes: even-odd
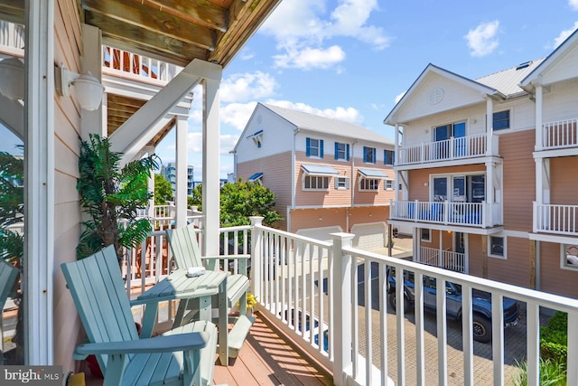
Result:
[[[275,193],[275,211],[284,218],[278,225],[286,229],[287,207],[291,205],[291,152],[257,158],[237,165],[237,177],[247,180],[252,174],[263,173],[261,183]]]

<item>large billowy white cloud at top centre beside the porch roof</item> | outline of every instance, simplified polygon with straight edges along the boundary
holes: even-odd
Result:
[[[387,48],[389,38],[381,27],[367,24],[378,10],[377,0],[339,0],[328,12],[327,0],[291,0],[277,6],[259,33],[273,35],[277,50],[275,63],[284,68],[328,69],[345,60],[345,52],[334,37],[344,36],[366,42],[376,50]]]

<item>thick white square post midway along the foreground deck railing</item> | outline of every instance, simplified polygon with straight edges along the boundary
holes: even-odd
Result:
[[[333,299],[335,318],[333,319],[333,381],[337,386],[346,384],[346,369],[351,369],[351,255],[343,253],[343,248],[351,247],[355,235],[350,233],[331,233],[333,237]]]

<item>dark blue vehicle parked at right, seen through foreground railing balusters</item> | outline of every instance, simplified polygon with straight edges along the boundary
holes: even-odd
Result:
[[[396,309],[396,277],[395,268],[390,268],[387,276],[389,305]],[[424,276],[424,311],[435,313],[436,310],[436,279]],[[461,286],[450,281],[445,282],[447,315],[454,320],[461,320]],[[472,291],[473,338],[482,343],[491,341],[491,295],[488,292],[474,289]],[[414,309],[415,278],[414,273],[404,272],[404,310]],[[517,325],[517,301],[504,297],[504,325]]]

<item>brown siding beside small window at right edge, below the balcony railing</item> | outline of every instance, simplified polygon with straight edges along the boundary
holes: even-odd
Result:
[[[578,271],[561,267],[561,247],[540,242],[540,290],[565,297],[578,297]]]

